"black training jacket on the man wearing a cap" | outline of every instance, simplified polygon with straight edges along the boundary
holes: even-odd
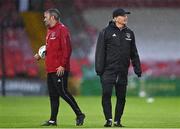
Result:
[[[141,76],[141,65],[135,37],[128,27],[119,29],[113,21],[99,33],[95,54],[95,70],[104,80],[127,82],[130,60],[134,72]]]

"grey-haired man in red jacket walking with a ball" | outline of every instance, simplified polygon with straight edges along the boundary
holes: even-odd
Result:
[[[61,96],[76,114],[76,125],[84,123],[85,115],[81,112],[73,96],[68,92],[67,81],[70,70],[71,44],[68,28],[59,22],[60,13],[57,9],[44,12],[44,22],[48,28],[46,35],[45,64],[47,84],[51,103],[51,117],[43,126],[57,125],[59,96]],[[34,56],[37,60],[41,57]]]

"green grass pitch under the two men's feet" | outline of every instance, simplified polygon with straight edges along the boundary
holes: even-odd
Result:
[[[79,128],[103,128],[101,97],[75,97],[86,114]],[[78,128],[75,114],[61,99],[58,128]],[[113,110],[115,97],[112,97]],[[0,128],[42,128],[50,114],[48,97],[0,97]],[[127,128],[180,128],[180,98],[157,97],[153,103],[145,98],[127,97],[122,124]]]

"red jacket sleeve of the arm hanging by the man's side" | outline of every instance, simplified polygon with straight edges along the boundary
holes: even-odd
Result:
[[[66,67],[66,65],[70,62],[71,56],[71,41],[70,41],[70,33],[67,28],[61,28],[61,45],[62,45],[62,67]]]

